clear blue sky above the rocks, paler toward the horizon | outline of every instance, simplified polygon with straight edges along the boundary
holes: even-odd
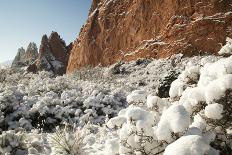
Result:
[[[77,38],[91,0],[0,0],[0,62],[11,60],[19,47],[57,31],[66,44]]]

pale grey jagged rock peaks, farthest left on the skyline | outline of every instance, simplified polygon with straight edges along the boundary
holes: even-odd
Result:
[[[31,42],[27,50],[23,47],[18,49],[18,53],[15,56],[14,61],[12,62],[12,68],[21,68],[30,65],[33,63],[38,56],[38,49],[35,43]]]

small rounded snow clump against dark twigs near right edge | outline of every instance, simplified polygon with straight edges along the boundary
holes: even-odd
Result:
[[[223,112],[223,105],[214,103],[205,107],[205,115],[211,119],[221,119]]]

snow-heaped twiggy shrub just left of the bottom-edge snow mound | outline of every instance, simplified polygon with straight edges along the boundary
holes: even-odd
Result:
[[[118,130],[118,138],[112,142],[119,145],[118,150],[108,141],[105,147],[115,154],[161,154],[168,143],[178,138],[174,133],[183,135],[189,126],[189,114],[182,105],[170,106],[158,96],[149,95],[147,102],[141,102],[142,94],[140,98],[138,95],[131,97],[134,94],[128,95],[131,105],[107,122],[111,130]],[[146,97],[145,93],[143,95]],[[132,103],[137,101],[141,103],[139,107]]]

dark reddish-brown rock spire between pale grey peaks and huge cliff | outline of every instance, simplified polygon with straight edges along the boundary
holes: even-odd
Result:
[[[34,73],[39,70],[46,70],[53,71],[58,75],[64,74],[68,63],[70,46],[66,47],[65,42],[57,32],[52,32],[49,38],[44,35],[41,40],[39,56],[27,70]]]

